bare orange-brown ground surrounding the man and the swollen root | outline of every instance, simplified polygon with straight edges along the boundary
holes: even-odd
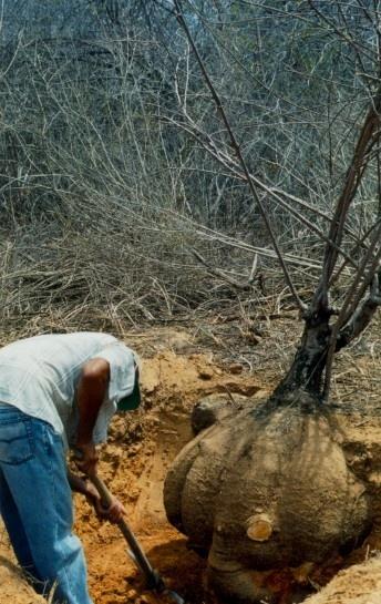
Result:
[[[292,313],[207,320],[205,325],[126,334],[143,357],[144,410],[115,418],[102,450],[101,473],[128,509],[128,522],[166,584],[190,604],[203,602],[204,562],[166,522],[162,485],[166,469],[190,438],[189,411],[200,398],[220,393],[267,396],[287,367],[299,334]],[[346,561],[327,561],[325,571],[308,580],[316,588],[339,574],[308,604],[375,604],[381,602],[381,397],[379,326],[339,359],[333,399],[344,448],[353,469],[372,491],[375,528]],[[380,446],[378,446],[380,443]],[[380,503],[378,503],[378,501]],[[89,561],[89,582],[95,604],[165,602],[144,590],[143,581],[115,526],[101,524],[75,496],[76,531]],[[41,602],[14,575],[4,533],[0,533],[0,602]],[[373,594],[373,595],[370,595]],[[378,594],[378,595],[377,595]],[[361,596],[361,597],[360,597]],[[360,597],[358,600],[358,597]],[[379,597],[379,600],[378,600]],[[368,598],[368,600],[367,600]]]

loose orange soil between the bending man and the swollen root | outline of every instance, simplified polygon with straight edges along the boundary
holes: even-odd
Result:
[[[188,602],[200,603],[204,563],[166,521],[162,495],[165,472],[192,438],[189,409],[197,400],[216,391],[226,397],[227,391],[255,396],[260,388],[253,377],[224,371],[205,355],[159,352],[143,364],[142,376],[145,411],[115,419],[113,442],[103,450],[102,474],[131,510],[128,522],[166,585]],[[119,530],[100,526],[83,504],[78,512],[95,604],[157,602],[144,592]]]

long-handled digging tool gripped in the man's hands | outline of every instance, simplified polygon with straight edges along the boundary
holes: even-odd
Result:
[[[103,480],[96,474],[89,477],[89,479],[100,493],[102,505],[104,508],[109,508],[112,503],[113,496],[110,493],[107,487],[104,484]],[[147,556],[143,552],[137,539],[130,529],[127,522],[122,519],[117,522],[117,526],[120,528],[124,539],[128,543],[130,550],[127,550],[127,552],[145,576],[147,588],[155,591],[157,594],[165,595],[167,598],[171,598],[175,604],[185,604],[185,600],[173,590],[168,590],[165,586],[165,583],[161,575],[152,567]]]

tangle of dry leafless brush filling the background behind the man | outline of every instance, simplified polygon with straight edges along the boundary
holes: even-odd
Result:
[[[327,96],[326,86],[318,85],[319,69],[325,73],[336,65],[334,53],[327,65],[306,72],[305,86],[285,89],[280,74],[270,76],[272,65],[262,54],[253,66],[254,79],[248,78],[226,48],[229,28],[241,52],[248,43],[244,21],[235,25],[231,20],[210,60],[238,133],[255,124],[245,147],[248,178],[236,163],[239,145],[231,152],[226,125],[219,131],[182,28],[175,19],[167,21],[164,6],[146,2],[158,28],[150,29],[138,4],[119,6],[119,22],[113,11],[102,13],[106,28],[89,42],[39,41],[23,32],[2,49],[8,65],[1,73],[0,122],[3,339],[95,324],[123,334],[143,323],[185,320],[195,311],[230,314],[235,306],[244,315],[258,301],[272,311],[290,301],[279,257],[301,301],[316,284],[333,197],[359,111],[372,91],[349,94],[360,76],[348,69],[344,85],[336,82]],[[215,17],[229,17],[223,8],[210,11],[199,21],[205,50],[210,43],[205,19],[212,27]],[[281,20],[275,11],[272,18],[282,44],[290,42],[301,23],[298,13]],[[134,28],[123,29],[123,19]],[[266,40],[267,54],[277,62],[279,35],[274,38],[260,16],[257,25],[260,47]],[[318,23],[312,25],[318,35]],[[176,40],[173,49],[161,43],[162,34]],[[295,53],[291,44],[290,61]],[[262,98],[267,78],[274,80],[268,108]],[[301,93],[306,103],[297,109],[292,95]],[[309,104],[310,95],[318,96],[319,108]],[[320,124],[316,114],[325,103],[337,119]],[[268,120],[271,112],[277,127]],[[257,198],[249,195],[250,183]],[[377,191],[377,177],[362,182],[362,203],[349,216],[354,240],[371,226]],[[266,216],[278,252],[261,223]],[[352,253],[353,246],[344,245],[343,252]],[[347,278],[336,284],[338,299]]]

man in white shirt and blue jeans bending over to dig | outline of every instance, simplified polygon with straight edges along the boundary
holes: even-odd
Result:
[[[90,481],[68,471],[65,453],[74,449],[80,470],[96,473],[95,446],[111,418],[138,403],[135,355],[107,334],[37,336],[0,349],[0,513],[19,564],[37,591],[55,585],[56,604],[92,604],[71,490],[111,522],[125,513],[116,499],[104,510]]]

